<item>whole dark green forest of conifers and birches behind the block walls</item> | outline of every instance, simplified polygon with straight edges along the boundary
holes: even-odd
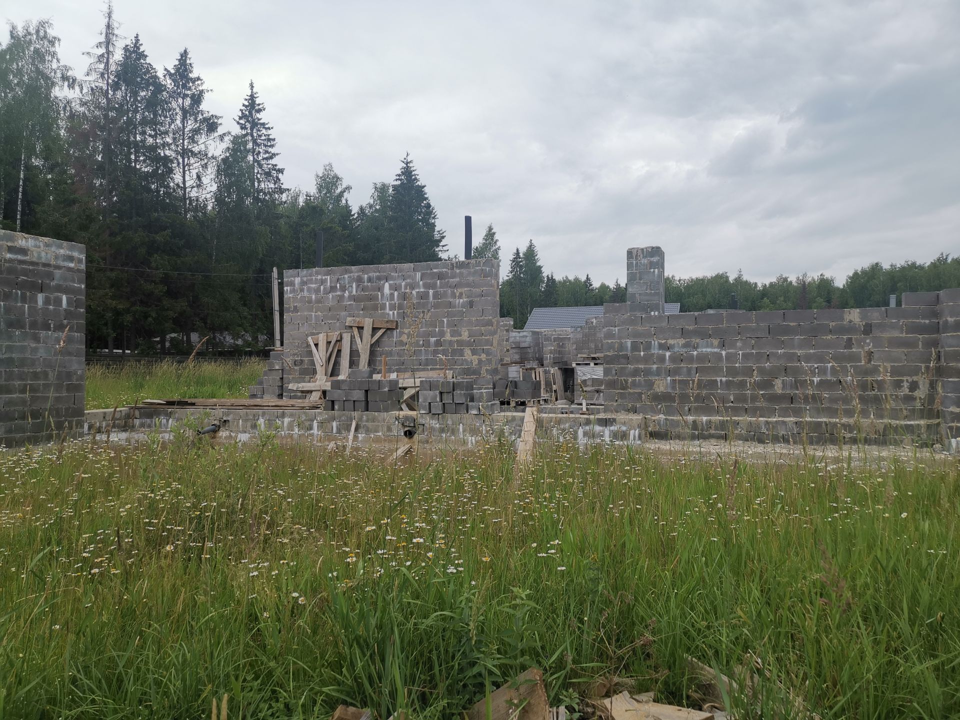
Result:
[[[313,187],[286,187],[253,80],[224,118],[206,108],[212,88],[189,49],[154,64],[109,4],[91,41],[82,73],[61,62],[50,20],[11,24],[0,44],[0,228],[86,246],[88,351],[183,352],[196,337],[210,351],[272,345],[271,271],[312,267],[318,232],[327,266],[457,256],[409,154],[355,207],[329,163]],[[516,327],[534,307],[626,299],[619,278],[558,278],[534,240],[520,246],[501,267],[501,315]],[[492,224],[473,256],[500,258]],[[670,276],[666,300],[683,311],[733,296],[741,309],[863,307],[945,287],[960,287],[960,258],[941,254],[872,263],[841,284]]]

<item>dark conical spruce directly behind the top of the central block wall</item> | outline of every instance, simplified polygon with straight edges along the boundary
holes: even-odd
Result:
[[[430,262],[439,260],[446,249],[444,230],[437,228],[437,211],[420,182],[410,154],[400,161],[400,169],[390,187],[388,227],[393,246],[390,260]]]

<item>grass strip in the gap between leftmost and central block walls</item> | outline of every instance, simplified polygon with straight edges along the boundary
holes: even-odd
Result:
[[[260,358],[177,363],[88,363],[86,409],[169,397],[246,397],[265,363]]]

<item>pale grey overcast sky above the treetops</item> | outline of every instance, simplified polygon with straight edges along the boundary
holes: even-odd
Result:
[[[78,69],[93,0],[50,17]],[[828,273],[960,252],[960,2],[116,0],[158,68],[189,47],[233,129],[253,80],[288,186],[353,186],[409,152],[463,254],[493,223],[509,259],[624,279]]]

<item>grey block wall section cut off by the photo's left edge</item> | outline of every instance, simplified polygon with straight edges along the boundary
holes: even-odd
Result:
[[[0,444],[84,431],[83,245],[0,230]]]

